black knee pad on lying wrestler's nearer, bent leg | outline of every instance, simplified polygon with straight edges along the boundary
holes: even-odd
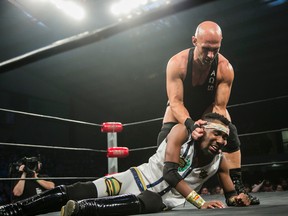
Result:
[[[158,193],[145,190],[137,197],[142,203],[142,206],[144,207],[141,212],[142,214],[160,212],[165,207],[162,202],[162,198]]]

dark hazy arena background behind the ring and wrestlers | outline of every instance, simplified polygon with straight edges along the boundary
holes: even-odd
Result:
[[[81,22],[46,3],[0,1],[0,61],[117,22],[109,11],[116,1],[79,2],[87,11]],[[163,116],[167,61],[192,46],[191,36],[200,22],[213,20],[223,31],[220,52],[235,70],[229,112],[239,134],[271,132],[241,136],[243,164],[287,161],[287,143],[283,144],[281,131],[288,127],[288,2],[202,2],[99,42],[1,71],[0,108],[96,124],[122,122],[127,126],[118,134],[118,146],[132,150],[153,147],[161,120],[129,123]],[[0,111],[0,131],[0,142],[107,148],[107,136],[98,126],[11,112]],[[119,171],[146,162],[155,148],[136,150],[128,158],[119,159]],[[2,177],[8,177],[9,163],[38,154],[44,170],[53,177],[98,177],[107,173],[104,153],[6,145],[0,145],[0,151]],[[253,167],[246,168],[247,178],[255,170],[260,173],[258,178],[264,178],[269,170],[287,173],[285,166],[281,171],[270,165],[265,169]]]

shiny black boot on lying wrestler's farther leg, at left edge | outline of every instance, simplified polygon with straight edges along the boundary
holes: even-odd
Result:
[[[58,186],[30,198],[1,206],[0,216],[28,216],[60,211],[67,200],[65,186]]]

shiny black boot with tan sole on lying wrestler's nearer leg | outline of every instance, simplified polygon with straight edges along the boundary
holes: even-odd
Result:
[[[135,195],[69,200],[61,209],[61,216],[131,215],[141,213],[141,202]]]

